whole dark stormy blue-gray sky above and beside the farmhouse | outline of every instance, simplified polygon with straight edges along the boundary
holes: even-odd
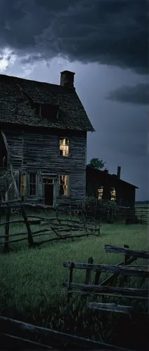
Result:
[[[0,0],[0,72],[75,86],[96,130],[87,161],[148,195],[148,1]]]

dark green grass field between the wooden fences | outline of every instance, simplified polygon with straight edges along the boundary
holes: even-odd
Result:
[[[34,226],[34,230],[38,229],[38,226]],[[10,232],[23,230],[23,225],[10,226]],[[41,326],[90,336],[87,321],[83,331],[82,326],[79,329],[79,325],[85,323],[83,322],[85,315],[87,320],[89,319],[89,312],[84,313],[82,320],[82,317],[78,317],[80,310],[77,310],[76,304],[71,306],[69,316],[64,314],[66,289],[62,288],[62,282],[66,281],[68,270],[62,263],[64,260],[87,262],[90,256],[94,258],[94,263],[112,264],[123,260],[121,255],[105,253],[105,244],[117,246],[128,244],[131,249],[148,249],[147,226],[102,224],[99,237],[52,242],[37,249],[28,249],[27,241],[12,243],[10,247],[14,251],[8,255],[0,255],[1,314]],[[147,264],[142,260],[138,260],[138,263]],[[83,274],[76,270],[76,282],[83,282],[84,276],[85,272]],[[101,280],[104,278],[104,274],[101,274]],[[129,284],[132,287],[137,286],[137,282],[133,280]],[[77,322],[74,322],[74,318]],[[78,328],[75,327],[75,323]],[[108,325],[109,322],[106,320],[105,323]],[[108,331],[105,332],[104,327],[101,329],[104,333],[99,333],[98,329],[98,338],[100,336],[101,339],[104,338],[104,342],[109,342],[111,339],[108,338]]]

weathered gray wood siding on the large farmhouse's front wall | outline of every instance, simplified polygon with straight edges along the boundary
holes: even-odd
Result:
[[[62,131],[62,133],[29,133],[4,131],[10,150],[13,170],[21,173],[37,173],[37,194],[31,201],[43,200],[41,173],[54,173],[57,203],[69,203],[70,199],[85,199],[86,179],[86,132]],[[59,155],[59,136],[69,137],[69,157]],[[59,196],[59,175],[69,174],[70,196]]]

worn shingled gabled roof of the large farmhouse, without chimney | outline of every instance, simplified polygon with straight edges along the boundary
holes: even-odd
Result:
[[[59,117],[42,118],[36,103],[59,106]],[[0,123],[94,131],[75,88],[0,74]]]

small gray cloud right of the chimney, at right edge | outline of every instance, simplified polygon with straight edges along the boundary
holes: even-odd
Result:
[[[106,99],[118,102],[127,102],[137,105],[148,105],[148,84],[141,83],[136,86],[122,86],[111,91]]]

